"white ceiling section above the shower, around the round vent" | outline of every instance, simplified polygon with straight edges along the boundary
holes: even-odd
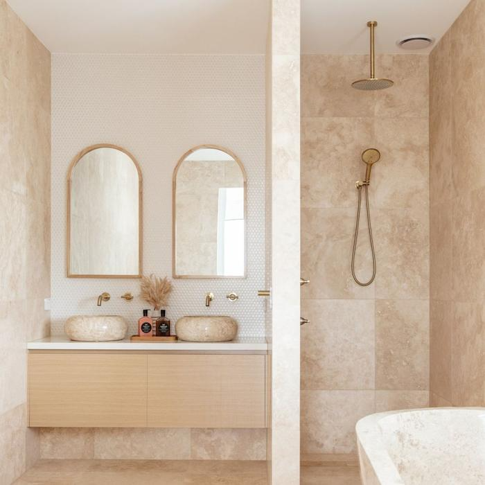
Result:
[[[426,34],[436,41],[457,19],[469,0],[301,0],[303,53],[365,54],[369,52],[368,20],[378,21],[376,53],[405,51],[396,41]]]

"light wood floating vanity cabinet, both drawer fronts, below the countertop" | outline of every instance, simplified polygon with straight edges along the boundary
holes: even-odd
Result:
[[[30,351],[31,427],[265,427],[265,355]]]

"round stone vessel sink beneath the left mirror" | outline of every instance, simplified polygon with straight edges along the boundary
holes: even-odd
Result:
[[[67,336],[79,342],[123,340],[127,329],[126,320],[116,315],[77,315],[64,324]]]

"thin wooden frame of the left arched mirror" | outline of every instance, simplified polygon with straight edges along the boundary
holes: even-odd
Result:
[[[136,172],[138,173],[138,274],[71,274],[71,191],[72,191],[72,175],[73,170],[78,161],[82,159],[87,153],[92,152],[98,148],[113,148],[114,150],[119,150],[125,155],[130,157],[134,166],[136,167]],[[118,145],[112,145],[110,143],[99,143],[98,145],[91,145],[84,150],[81,150],[69,166],[67,172],[67,277],[68,278],[116,278],[116,279],[134,279],[141,278],[143,276],[143,191],[142,191],[142,176],[141,168],[136,161],[135,157]]]

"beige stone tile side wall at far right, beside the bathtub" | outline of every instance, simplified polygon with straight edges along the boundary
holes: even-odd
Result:
[[[485,405],[485,1],[430,54],[430,400]]]

